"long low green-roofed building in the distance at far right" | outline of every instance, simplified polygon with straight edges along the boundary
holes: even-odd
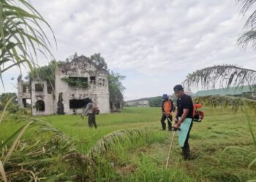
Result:
[[[252,85],[241,87],[230,87],[212,90],[200,90],[195,93],[195,96],[213,96],[213,95],[230,95],[236,97],[256,98],[256,88]]]

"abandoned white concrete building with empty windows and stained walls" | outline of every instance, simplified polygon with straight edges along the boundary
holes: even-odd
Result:
[[[86,56],[73,58],[55,70],[55,84],[40,78],[23,82],[18,77],[18,103],[26,107],[31,100],[33,116],[80,114],[91,99],[100,113],[110,112],[108,71]]]

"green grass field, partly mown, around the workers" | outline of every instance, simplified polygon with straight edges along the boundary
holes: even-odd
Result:
[[[174,141],[170,165],[165,162],[170,147],[172,132],[162,131],[160,108],[124,108],[122,113],[99,114],[98,129],[89,128],[87,118],[80,116],[40,117],[58,128],[75,143],[76,149],[88,154],[91,147],[110,132],[123,129],[139,129],[143,135],[134,139],[116,142],[113,151],[99,158],[91,180],[97,181],[249,181],[256,179],[256,146],[249,132],[246,116],[241,111],[233,114],[229,109],[203,108],[206,118],[194,122],[189,139],[192,160],[181,158],[181,149]],[[255,115],[249,116],[256,131]],[[0,124],[1,140],[18,128],[12,119]],[[256,132],[255,132],[256,135]],[[45,140],[49,138],[44,135]],[[176,136],[177,139],[178,136]],[[39,138],[34,129],[28,130],[23,138]],[[235,146],[227,148],[228,146]],[[224,152],[225,149],[225,152]],[[51,167],[57,167],[52,165]],[[65,178],[74,175],[73,170],[59,167],[56,173]],[[60,172],[61,171],[61,172]],[[53,172],[51,172],[53,173]],[[50,175],[45,172],[44,175]]]

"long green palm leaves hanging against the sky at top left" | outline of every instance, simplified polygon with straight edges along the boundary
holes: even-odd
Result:
[[[4,71],[24,63],[32,70],[37,65],[34,60],[39,52],[53,57],[42,23],[50,28],[26,0],[0,1],[0,77]]]

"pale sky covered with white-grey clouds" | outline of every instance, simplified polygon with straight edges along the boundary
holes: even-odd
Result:
[[[256,52],[237,39],[248,15],[235,0],[31,0],[56,36],[56,60],[100,52],[110,70],[126,76],[124,100],[172,94],[187,74],[219,64],[256,69]],[[39,65],[48,60],[39,58]],[[27,69],[23,69],[26,76]],[[20,71],[4,72],[16,92]],[[15,79],[13,79],[15,78]],[[194,88],[193,92],[200,90]]]

